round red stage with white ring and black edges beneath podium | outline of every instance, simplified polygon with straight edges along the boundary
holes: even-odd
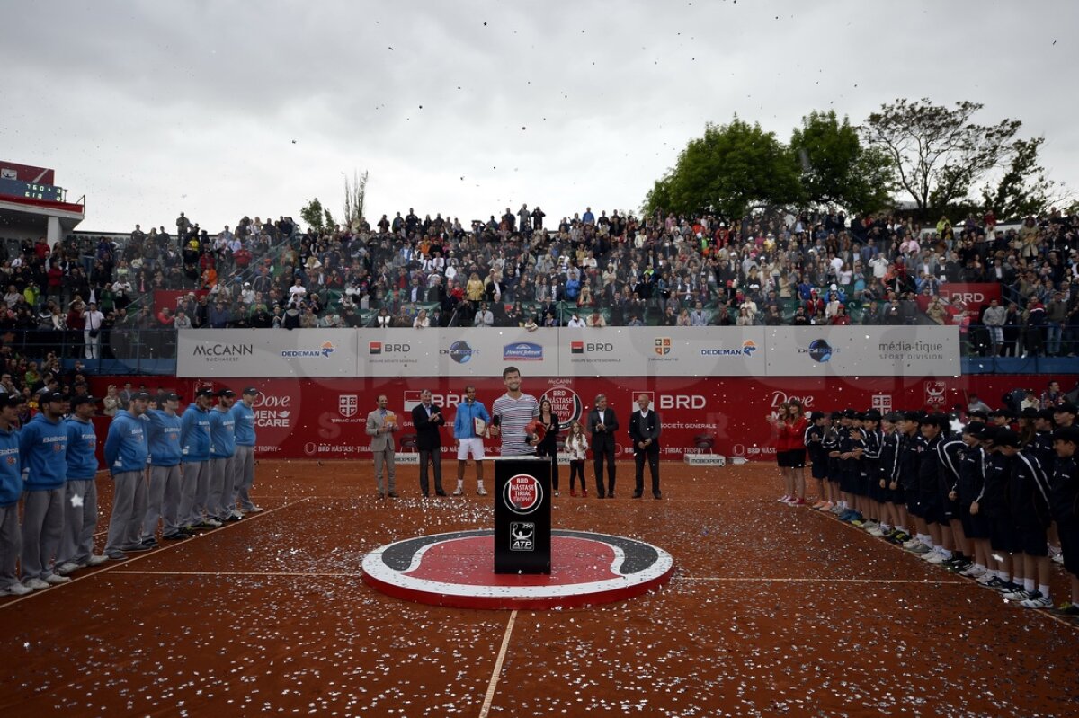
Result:
[[[624,536],[551,531],[551,572],[495,574],[490,530],[420,536],[375,549],[364,581],[382,593],[435,606],[576,608],[632,598],[674,572],[669,553]]]

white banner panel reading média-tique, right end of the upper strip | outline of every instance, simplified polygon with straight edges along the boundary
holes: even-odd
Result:
[[[775,327],[768,376],[933,376],[961,371],[956,327]]]

